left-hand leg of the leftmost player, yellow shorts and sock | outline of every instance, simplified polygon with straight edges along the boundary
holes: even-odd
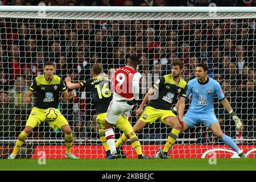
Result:
[[[23,145],[24,141],[26,140],[27,136],[31,133],[34,127],[40,125],[40,123],[44,121],[44,109],[39,109],[37,107],[33,107],[31,110],[30,116],[26,122],[26,127],[19,134],[18,139],[16,140],[14,150],[8,159],[15,159],[16,154],[19,151],[19,148]]]

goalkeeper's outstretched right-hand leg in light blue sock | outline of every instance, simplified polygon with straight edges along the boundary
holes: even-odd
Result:
[[[234,140],[232,140],[232,138],[228,137],[221,131],[221,127],[218,122],[210,124],[210,129],[213,131],[214,135],[222,139],[230,148],[236,151],[240,158],[246,158],[246,155],[243,153],[242,150],[240,150],[240,148],[238,148]]]

